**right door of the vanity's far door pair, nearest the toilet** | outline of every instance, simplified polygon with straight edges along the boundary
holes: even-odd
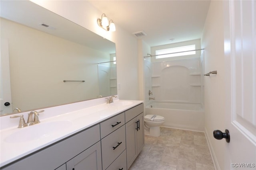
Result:
[[[142,148],[144,147],[144,113],[140,113],[136,117],[137,122],[138,122],[138,131],[137,132],[137,154],[140,153]]]

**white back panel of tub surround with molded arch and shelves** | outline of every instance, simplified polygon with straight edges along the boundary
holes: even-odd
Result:
[[[156,101],[201,104],[200,65],[200,58],[152,63]]]

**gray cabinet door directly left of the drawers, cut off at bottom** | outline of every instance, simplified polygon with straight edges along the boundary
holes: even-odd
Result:
[[[102,170],[100,142],[66,163],[67,170]]]

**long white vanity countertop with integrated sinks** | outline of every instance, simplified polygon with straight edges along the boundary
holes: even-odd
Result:
[[[114,100],[112,104],[98,104],[53,117],[40,119],[39,116],[40,123],[23,128],[17,128],[16,119],[15,126],[0,131],[0,167],[141,103],[143,101]]]

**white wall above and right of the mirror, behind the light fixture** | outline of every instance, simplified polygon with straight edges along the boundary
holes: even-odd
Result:
[[[134,35],[119,27],[116,22],[115,32],[100,28],[97,19],[101,18],[104,11],[97,10],[87,1],[31,1],[116,43],[119,98],[139,100],[138,42]]]

